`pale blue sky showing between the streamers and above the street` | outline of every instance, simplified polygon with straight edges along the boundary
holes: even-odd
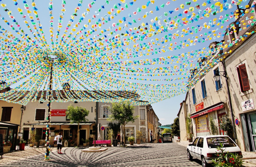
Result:
[[[215,4],[216,1],[210,0],[211,4],[207,5],[206,7],[209,7],[210,5]],[[219,0],[219,1],[223,2],[222,0]],[[29,30],[28,30],[27,26],[23,22],[22,15],[17,10],[17,8],[20,7],[23,10],[23,13],[27,14],[26,10],[24,9],[23,0],[18,0],[17,2],[18,2],[19,5],[15,6],[14,1],[12,1],[12,0],[2,0],[2,3],[7,5],[6,7],[9,9],[9,11],[12,11],[12,15],[15,17],[15,20],[19,22],[19,25],[25,30],[25,32],[27,32],[27,34],[29,34],[29,36],[32,36],[32,34],[29,33]],[[32,10],[31,0],[26,0],[26,2]],[[36,3],[36,8],[38,9],[38,11],[37,11],[38,16],[40,18],[40,23],[42,25],[42,29],[45,33],[47,43],[50,44],[50,32],[49,32],[49,30],[50,30],[49,29],[50,28],[50,16],[49,16],[49,8],[48,7],[49,7],[49,2],[51,2],[51,1],[49,1],[49,0],[35,0],[34,2]],[[53,23],[54,23],[53,24],[53,27],[54,27],[53,41],[55,42],[55,37],[56,37],[57,29],[58,29],[57,26],[58,26],[58,22],[59,22],[58,21],[59,20],[59,15],[60,15],[61,9],[62,9],[62,0],[53,0],[52,2],[53,2],[52,15],[54,16],[54,19],[53,19]],[[89,2],[93,2],[93,0],[91,0],[91,1],[83,0],[83,3],[81,4],[81,6],[79,6],[80,9],[77,12],[78,16],[74,17],[74,23],[69,27],[67,34],[69,34],[70,29],[72,29],[73,26],[76,23],[78,23],[78,20],[81,17],[82,13],[86,12],[86,8],[88,8]],[[125,8],[124,3],[121,3],[120,0],[110,0],[109,4],[106,4],[105,0],[96,0],[94,2],[95,2],[95,4],[93,4],[92,8],[90,8],[90,12],[88,12],[85,19],[81,22],[81,25],[78,25],[78,27],[76,29],[82,28],[82,26],[88,22],[88,19],[90,19],[92,21],[92,23],[95,23],[95,21],[97,21],[98,19],[101,19],[102,17],[105,18],[105,15],[107,14],[107,12],[110,10],[110,8],[113,8],[115,4],[118,5],[120,3],[121,7]],[[133,1],[132,0],[129,0],[129,1],[126,0],[127,4],[129,4],[129,2],[133,2]],[[164,8],[161,8],[160,6],[162,4],[166,4],[166,2],[168,2],[167,0],[165,0],[165,1],[155,0],[154,4],[149,4],[149,6],[146,9],[142,9],[142,5],[146,5],[147,2],[148,1],[137,0],[137,1],[133,2],[133,5],[128,5],[128,9],[125,9],[120,14],[116,14],[116,16],[114,14],[112,14],[114,16],[114,19],[112,19],[111,21],[109,21],[105,25],[102,25],[101,29],[112,28],[111,30],[114,31],[118,26],[113,27],[113,23],[118,23],[119,20],[123,21],[123,17],[126,17],[126,21],[124,23],[126,23],[128,25],[128,28],[124,27],[124,23],[123,23],[121,27],[124,27],[124,28],[122,28],[121,31],[117,31],[116,34],[125,33],[126,30],[128,30],[129,28],[134,28],[134,27],[141,26],[142,22],[145,23],[145,24],[146,23],[153,24],[153,23],[151,23],[150,20],[154,19],[156,16],[158,16],[158,17],[162,16],[162,18],[165,18],[165,19],[167,19],[168,17],[171,17],[171,19],[173,19],[174,16],[182,14],[182,16],[178,16],[178,18],[181,19],[181,18],[187,16],[186,14],[183,13],[184,9],[188,9],[189,7],[195,7],[195,4],[200,4],[201,5],[201,4],[203,4],[203,2],[206,2],[206,0],[205,1],[204,0],[197,0],[197,2],[193,2],[191,0],[191,5],[190,6],[186,6],[185,5],[186,1],[184,1],[184,0],[176,0],[176,1],[170,0],[170,5],[168,5],[168,6],[165,5]],[[231,0],[228,0],[228,2],[231,2]],[[242,6],[245,6],[248,2],[249,1],[243,2]],[[61,35],[64,33],[66,25],[68,24],[68,22],[72,18],[71,16],[74,13],[75,8],[78,7],[79,3],[80,3],[79,0],[66,0],[66,5],[65,5],[66,11],[65,11],[65,15],[63,15],[63,19],[62,19],[62,21],[63,21],[62,26],[63,27],[61,28],[61,30],[59,32],[59,34],[60,34],[59,39],[60,39]],[[172,14],[168,14],[168,16],[164,16],[164,12],[174,11],[175,8],[177,8],[177,7],[180,8],[181,4],[185,5],[184,9],[180,9],[178,12],[173,12]],[[102,6],[104,6],[104,8]],[[158,6],[159,11],[156,11],[156,6]],[[120,9],[121,7],[118,7],[118,8]],[[201,6],[201,9],[203,10],[206,7]],[[0,8],[2,8],[2,7],[0,7]],[[99,12],[99,8],[101,9],[101,12]],[[141,8],[141,12],[137,12],[137,8]],[[218,18],[220,15],[228,14],[231,11],[234,11],[235,8],[236,8],[236,6],[234,5],[232,9],[228,9],[227,11],[224,11],[220,14],[217,14],[216,16],[210,15],[210,17],[207,18],[207,19],[205,18],[205,19],[199,20],[198,22],[194,22],[192,24],[189,24],[188,26],[179,27],[178,29],[174,29],[172,31],[162,33],[162,34],[160,34],[156,37],[161,39],[161,37],[163,37],[164,35],[168,35],[169,33],[171,33],[171,34],[176,33],[177,30],[181,32],[181,30],[183,28],[186,29],[187,27],[197,26],[197,25],[202,26],[204,22],[208,23],[209,20],[212,20],[213,18]],[[137,12],[136,15],[133,14],[133,12],[135,12],[135,11]],[[153,14],[149,14],[146,18],[142,18],[141,21],[137,20],[136,23],[132,23],[133,19],[136,20],[138,18],[141,18],[143,15],[145,15],[146,12],[150,12],[150,11],[153,11]],[[195,9],[194,12],[196,13],[197,10]],[[9,18],[7,12],[5,12],[3,10],[0,10],[0,14],[5,19],[7,19],[11,24],[13,24],[12,19]],[[129,14],[132,17],[128,17]],[[191,13],[188,13],[188,14],[191,14]],[[96,16],[96,18],[94,20],[92,20],[93,15]],[[32,16],[34,16],[34,14],[32,14]],[[109,16],[109,15],[107,15],[107,16]],[[105,18],[105,19],[108,19],[108,18]],[[28,17],[27,17],[27,20],[29,20]],[[161,19],[161,20],[163,20],[163,19]],[[132,25],[129,25],[128,22],[131,22]],[[232,20],[230,20],[229,22],[225,22],[223,24],[223,26],[225,27],[231,22],[232,22]],[[157,24],[157,22],[155,22],[155,23]],[[9,28],[6,25],[6,23],[4,23],[3,20],[0,20],[0,25],[2,27],[4,27],[5,29],[10,30],[11,32],[13,32],[13,30],[11,30],[11,28]],[[14,26],[16,26],[16,25],[14,25]],[[37,25],[37,27],[38,27],[38,25]],[[91,27],[91,25],[88,26],[88,28],[90,28],[90,27]],[[219,28],[219,27],[213,27],[211,29],[203,29],[202,32],[200,32],[200,33],[188,34],[186,37],[183,37],[181,39],[176,39],[175,41],[171,41],[171,42],[179,43],[180,41],[184,41],[184,40],[187,40],[189,38],[194,40],[195,36],[199,36],[200,34],[203,34],[203,33],[208,33],[209,31],[211,31],[213,29],[216,29],[216,28]],[[96,35],[96,34],[99,34],[101,29],[98,29],[98,31],[95,32],[94,34],[92,34],[92,36]],[[221,30],[218,30],[217,32],[222,32],[223,30],[225,30],[225,28],[223,28]],[[109,32],[103,33],[101,36],[106,35],[108,37],[108,35],[107,35],[108,33]],[[13,32],[13,34],[14,34],[14,32]],[[150,42],[150,40],[151,39],[144,40],[144,41],[142,41],[142,43],[143,42]],[[206,41],[204,43],[197,43],[195,46],[185,47],[184,49],[177,49],[177,50],[174,50],[174,51],[169,51],[169,52],[165,52],[165,53],[161,53],[161,54],[149,55],[147,57],[145,57],[145,56],[136,57],[136,58],[131,58],[129,60],[140,60],[140,59],[146,59],[146,58],[150,59],[150,58],[158,58],[158,57],[162,57],[162,56],[178,55],[178,54],[186,53],[186,52],[191,51],[191,50],[198,50],[198,49],[201,49],[203,47],[208,47],[209,43],[214,42],[214,41],[220,41],[220,40],[222,40],[222,37],[220,37],[216,40]],[[133,44],[132,44],[132,46],[133,46]],[[132,48],[132,46],[129,46],[129,47]],[[163,46],[164,46],[164,44],[160,44],[159,47],[163,47]],[[122,47],[122,48],[125,49],[126,47]],[[156,48],[158,48],[158,47],[156,47]],[[118,50],[118,49],[115,49],[115,50]],[[190,60],[191,60],[191,58],[190,58]],[[124,60],[122,60],[122,61],[124,61]],[[168,67],[168,66],[170,66],[170,65],[169,64],[167,64],[167,65],[163,64],[163,65],[158,65],[158,66],[156,65],[154,67]],[[138,68],[138,67],[142,67],[142,66],[135,66],[135,67]],[[152,66],[150,66],[150,67],[152,67]],[[177,75],[173,78],[178,78],[178,77],[182,77],[182,76]],[[138,76],[138,78],[145,78],[145,77]],[[165,76],[158,76],[158,77],[154,76],[154,77],[150,77],[150,78],[151,79],[165,79],[166,77]],[[187,79],[177,80],[177,81],[173,81],[173,82],[167,82],[167,81],[134,81],[132,79],[124,79],[124,81],[139,82],[139,83],[143,83],[143,84],[160,84],[161,85],[161,84],[171,84],[171,83],[177,83],[177,82],[186,82]],[[102,83],[102,84],[104,84],[104,83]],[[13,87],[15,87],[15,86],[16,85],[14,85]],[[145,98],[151,98],[151,97],[145,97]],[[182,95],[178,95],[176,97],[172,97],[172,98],[169,98],[169,99],[166,99],[166,100],[162,100],[161,102],[158,102],[158,103],[155,103],[155,104],[151,104],[153,106],[153,109],[156,112],[157,116],[159,117],[160,123],[162,125],[173,123],[173,120],[174,120],[174,118],[177,117],[178,110],[180,109],[180,103],[184,100],[184,98],[185,98],[185,94],[182,94]]]

